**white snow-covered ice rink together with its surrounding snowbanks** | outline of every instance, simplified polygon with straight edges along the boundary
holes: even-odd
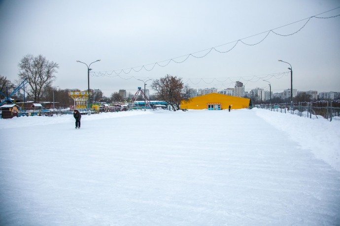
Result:
[[[81,127],[0,120],[1,226],[340,225],[337,121],[139,111]]]

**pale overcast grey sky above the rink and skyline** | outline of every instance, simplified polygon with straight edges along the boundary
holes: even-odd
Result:
[[[340,16],[279,28],[339,6],[339,0],[1,0],[0,75],[14,82],[21,58],[41,54],[60,66],[54,86],[82,90],[87,89],[87,67],[76,60],[89,64],[101,59],[91,68],[105,76],[91,76],[90,88],[106,96],[119,89],[134,93],[143,86],[136,79],[167,74],[192,88],[218,90],[234,87],[235,81],[243,82],[246,91],[269,90],[262,81],[267,79],[272,91],[280,92],[290,88],[289,73],[272,76],[289,71],[288,64],[277,61],[282,59],[293,67],[293,88],[340,91]],[[339,14],[340,8],[319,17]],[[228,51],[239,39],[254,44],[267,35],[264,31],[279,28],[274,31],[290,34],[304,24],[290,36],[270,32],[254,46],[238,42],[228,53],[213,50],[151,71],[115,74],[184,56],[175,59],[181,61],[196,52],[203,56],[208,51],[200,51],[226,43],[216,49]]]

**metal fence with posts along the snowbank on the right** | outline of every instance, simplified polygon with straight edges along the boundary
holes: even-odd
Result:
[[[326,105],[327,103],[327,105]],[[319,105],[319,106],[315,106]],[[323,105],[326,105],[323,107]],[[329,121],[340,120],[340,108],[332,107],[332,102],[323,103],[298,103],[293,106],[290,104],[261,104],[255,105],[256,108],[267,109],[274,112],[297,114],[301,117],[326,118]]]

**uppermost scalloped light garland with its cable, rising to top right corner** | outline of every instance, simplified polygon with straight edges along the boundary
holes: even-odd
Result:
[[[155,68],[156,64],[157,64],[158,66],[160,66],[160,67],[165,67],[165,66],[168,66],[169,63],[170,63],[171,61],[172,61],[172,62],[175,62],[175,63],[183,63],[183,62],[186,61],[190,56],[195,57],[195,58],[203,58],[203,57],[207,56],[209,53],[211,53],[212,50],[215,50],[215,51],[218,52],[218,53],[228,53],[228,52],[230,52],[231,50],[233,50],[233,49],[236,47],[236,45],[238,44],[238,42],[241,42],[241,43],[243,43],[244,45],[248,45],[248,46],[258,45],[258,44],[260,44],[261,42],[263,42],[263,41],[268,37],[268,35],[269,35],[271,32],[274,33],[274,34],[276,34],[276,35],[284,36],[284,37],[290,36],[290,35],[293,35],[293,34],[296,34],[296,33],[298,33],[300,30],[302,30],[302,28],[305,28],[306,24],[310,21],[311,18],[316,18],[316,19],[330,19],[330,18],[338,17],[338,16],[340,16],[340,14],[339,14],[339,15],[335,15],[335,16],[330,16],[330,17],[318,17],[318,15],[321,15],[321,14],[324,14],[324,13],[327,13],[327,12],[330,12],[330,11],[333,11],[333,10],[336,10],[336,9],[338,9],[338,8],[340,8],[340,7],[337,7],[337,8],[331,9],[331,10],[328,10],[328,11],[323,12],[323,13],[319,13],[319,14],[317,14],[317,15],[314,15],[314,16],[311,16],[311,17],[308,17],[308,18],[305,18],[305,19],[302,19],[302,20],[299,20],[299,21],[296,21],[296,22],[293,22],[293,23],[290,23],[290,24],[287,24],[287,25],[278,27],[278,28],[273,28],[273,29],[271,29],[271,30],[267,30],[267,31],[264,31],[264,32],[261,32],[261,33],[258,33],[258,34],[254,34],[254,35],[251,35],[251,36],[248,36],[248,37],[245,37],[245,38],[241,38],[241,39],[238,39],[238,40],[233,41],[233,42],[225,43],[225,44],[222,44],[222,45],[219,45],[219,46],[215,46],[215,47],[212,47],[212,48],[209,48],[209,49],[205,49],[205,50],[202,50],[202,51],[198,51],[198,52],[195,52],[195,53],[192,53],[192,54],[183,55],[183,56],[181,56],[181,57],[174,57],[174,58],[171,58],[171,59],[168,59],[168,60],[163,60],[163,61],[159,61],[159,62],[156,62],[156,63],[150,63],[150,64],[141,65],[141,66],[136,66],[136,67],[132,67],[132,68],[125,68],[125,69],[112,70],[112,71],[105,71],[105,72],[90,72],[90,73],[92,73],[92,75],[96,75],[97,73],[99,73],[99,74],[101,74],[101,75],[104,74],[104,76],[106,76],[106,74],[111,75],[113,72],[114,72],[116,75],[120,75],[122,72],[123,72],[124,74],[129,74],[132,70],[135,71],[135,72],[139,72],[139,71],[141,71],[143,68],[144,68],[146,71],[151,71],[151,70],[153,70],[153,69]],[[290,25],[292,25],[292,24],[296,24],[296,23],[299,23],[299,22],[305,21],[305,20],[307,20],[306,23],[305,23],[301,28],[299,28],[297,31],[295,31],[295,32],[293,32],[293,33],[290,33],[290,34],[280,34],[280,33],[277,33],[277,32],[274,31],[274,30],[276,30],[276,29],[283,28],[283,27],[287,27],[287,26],[290,26]],[[259,42],[257,42],[257,43],[248,44],[248,43],[245,43],[244,41],[242,41],[242,40],[244,40],[244,39],[247,39],[247,38],[250,38],[250,37],[254,37],[254,36],[257,36],[257,35],[260,35],[260,34],[263,34],[263,33],[267,33],[267,34],[266,34],[266,36],[265,36],[261,41],[259,41]],[[231,43],[234,43],[234,42],[235,42],[235,45],[234,45],[231,49],[229,49],[229,50],[227,50],[227,51],[219,51],[219,50],[216,49],[216,48],[218,48],[218,47],[225,46],[225,45],[228,45],[228,44],[231,44]],[[205,54],[202,55],[202,56],[195,56],[195,54],[202,53],[202,52],[205,52],[205,51],[208,51],[208,52],[205,53]],[[184,58],[183,60],[179,60],[179,61],[176,61],[176,60],[175,60],[175,59],[182,58],[182,57],[185,57],[185,58]],[[165,65],[161,65],[160,63],[163,63],[163,62],[167,62],[167,63],[166,63]],[[149,69],[146,68],[146,66],[149,66],[149,65],[153,65],[153,66],[152,66],[151,68],[149,68]],[[136,69],[135,69],[135,68],[136,68]],[[139,68],[139,69],[137,69],[137,68]],[[109,73],[109,72],[111,72],[111,73]]]

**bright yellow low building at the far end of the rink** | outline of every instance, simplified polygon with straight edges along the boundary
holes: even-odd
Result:
[[[242,109],[249,107],[250,99],[228,96],[220,93],[210,93],[198,97],[189,98],[187,101],[181,102],[181,109],[194,110],[223,110],[228,109]]]

